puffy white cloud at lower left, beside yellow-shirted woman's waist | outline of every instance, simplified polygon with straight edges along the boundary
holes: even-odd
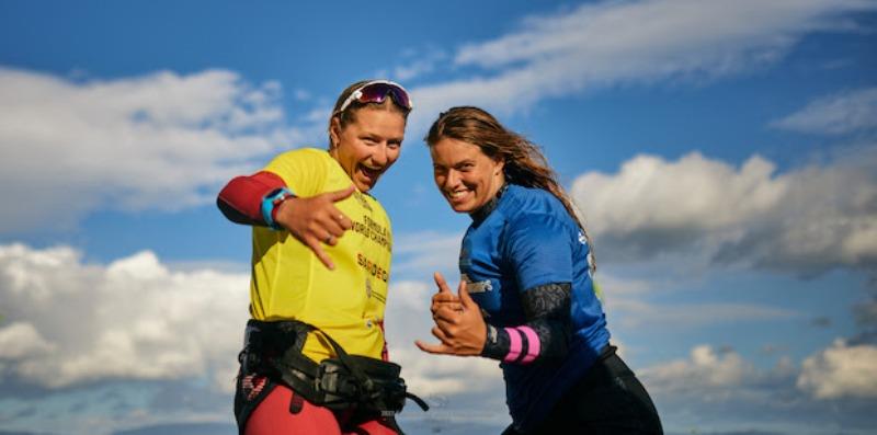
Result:
[[[58,388],[206,378],[230,391],[249,276],[170,272],[149,251],[106,266],[70,248],[0,247],[0,381]]]

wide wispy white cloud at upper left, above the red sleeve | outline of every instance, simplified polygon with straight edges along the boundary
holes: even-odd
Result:
[[[99,208],[204,204],[288,147],[276,82],[227,70],[77,82],[0,68],[0,232],[70,226]]]

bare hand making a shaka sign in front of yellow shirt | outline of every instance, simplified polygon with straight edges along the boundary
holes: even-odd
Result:
[[[334,247],[344,231],[353,228],[353,222],[334,203],[349,198],[355,190],[351,185],[342,191],[286,199],[278,206],[274,220],[310,248],[326,267],[333,270],[335,265],[322,250],[322,243]]]

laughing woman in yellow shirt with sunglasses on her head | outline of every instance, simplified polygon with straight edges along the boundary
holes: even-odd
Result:
[[[379,364],[392,236],[369,191],[398,159],[411,107],[397,83],[354,83],[332,111],[328,151],[281,153],[219,193],[225,216],[252,226],[252,319],[235,400],[241,434],[400,433],[392,413],[405,385],[398,366]],[[367,390],[371,375],[350,360],[395,366],[396,377]],[[327,373],[338,367],[353,374],[335,382]],[[380,405],[369,409],[364,391]]]

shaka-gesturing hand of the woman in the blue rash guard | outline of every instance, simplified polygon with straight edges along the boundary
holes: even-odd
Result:
[[[435,284],[438,286],[438,294],[433,296],[435,300],[442,300],[433,313],[435,327],[432,334],[441,341],[438,344],[426,344],[415,341],[421,351],[440,355],[475,356],[481,355],[487,341],[487,324],[481,317],[481,309],[478,304],[469,296],[466,289],[466,282],[460,281],[457,287],[458,296],[454,296],[447,287],[442,274],[435,274]],[[442,295],[442,296],[440,296]],[[458,298],[457,310],[454,298]]]

